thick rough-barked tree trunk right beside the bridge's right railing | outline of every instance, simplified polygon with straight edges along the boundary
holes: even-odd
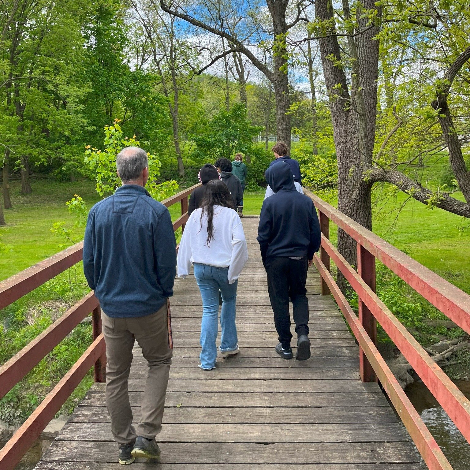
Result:
[[[317,0],[315,7],[320,21],[334,24],[333,6],[329,0]],[[365,0],[363,8],[376,8],[376,6],[373,0]],[[345,17],[348,17],[347,0],[343,1],[343,9]],[[372,167],[379,41],[373,39],[378,33],[378,26],[367,29],[367,18],[360,18],[361,11],[358,11],[357,15],[358,29],[363,32],[357,39],[352,35],[348,37],[349,54],[354,61],[351,96],[348,92],[345,71],[337,66],[341,61],[341,55],[334,26],[325,31],[325,37],[319,40],[319,46],[330,97],[333,136],[338,159],[338,209],[370,230],[372,185],[365,180],[364,172]],[[352,102],[352,106],[349,102]],[[338,250],[348,263],[357,266],[357,244],[342,230],[338,230]],[[338,283],[342,290],[346,290],[341,274],[338,274]]]

